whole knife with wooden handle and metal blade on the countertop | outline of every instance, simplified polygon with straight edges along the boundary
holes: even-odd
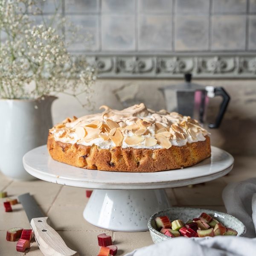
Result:
[[[47,224],[48,217],[41,212],[29,193],[19,195],[18,199],[29,219],[35,241],[44,256],[79,256],[79,253],[67,247],[61,236]]]

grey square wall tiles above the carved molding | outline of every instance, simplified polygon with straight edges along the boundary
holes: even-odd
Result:
[[[46,0],[46,15],[55,3],[93,36],[76,52],[256,50],[256,0]]]

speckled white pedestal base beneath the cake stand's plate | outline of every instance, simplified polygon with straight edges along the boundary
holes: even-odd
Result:
[[[148,230],[148,219],[171,204],[164,189],[95,189],[84,209],[84,218],[106,230]]]

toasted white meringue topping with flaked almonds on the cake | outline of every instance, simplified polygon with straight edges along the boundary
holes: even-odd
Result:
[[[153,111],[141,103],[122,111],[101,106],[102,113],[67,118],[50,133],[56,141],[98,148],[170,148],[204,141],[208,132],[190,116]]]

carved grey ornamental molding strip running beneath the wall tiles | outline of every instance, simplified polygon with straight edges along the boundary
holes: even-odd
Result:
[[[256,54],[247,55],[90,55],[100,78],[256,78]]]

